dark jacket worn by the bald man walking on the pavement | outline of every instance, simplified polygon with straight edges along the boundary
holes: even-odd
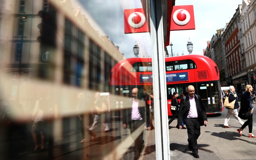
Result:
[[[196,101],[198,121],[199,121],[200,126],[203,126],[204,120],[207,121],[205,107],[204,107],[204,104],[199,95],[197,95],[197,96],[195,95],[194,97],[195,97],[195,101]],[[178,126],[181,126],[184,119],[188,116],[189,109],[190,109],[189,96],[186,95],[185,102],[184,102],[184,98],[180,99],[180,108],[179,108],[179,112],[178,112]],[[185,124],[185,122],[184,122],[184,124]]]

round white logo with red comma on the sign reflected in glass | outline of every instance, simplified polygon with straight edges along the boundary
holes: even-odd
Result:
[[[146,22],[144,14],[141,12],[133,12],[128,17],[128,23],[132,28],[141,28]]]

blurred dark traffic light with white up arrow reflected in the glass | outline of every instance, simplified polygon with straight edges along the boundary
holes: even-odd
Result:
[[[40,42],[40,61],[49,62],[53,49],[56,47],[56,13],[52,11],[39,11],[41,23],[37,25],[40,30],[40,36],[37,37]]]

